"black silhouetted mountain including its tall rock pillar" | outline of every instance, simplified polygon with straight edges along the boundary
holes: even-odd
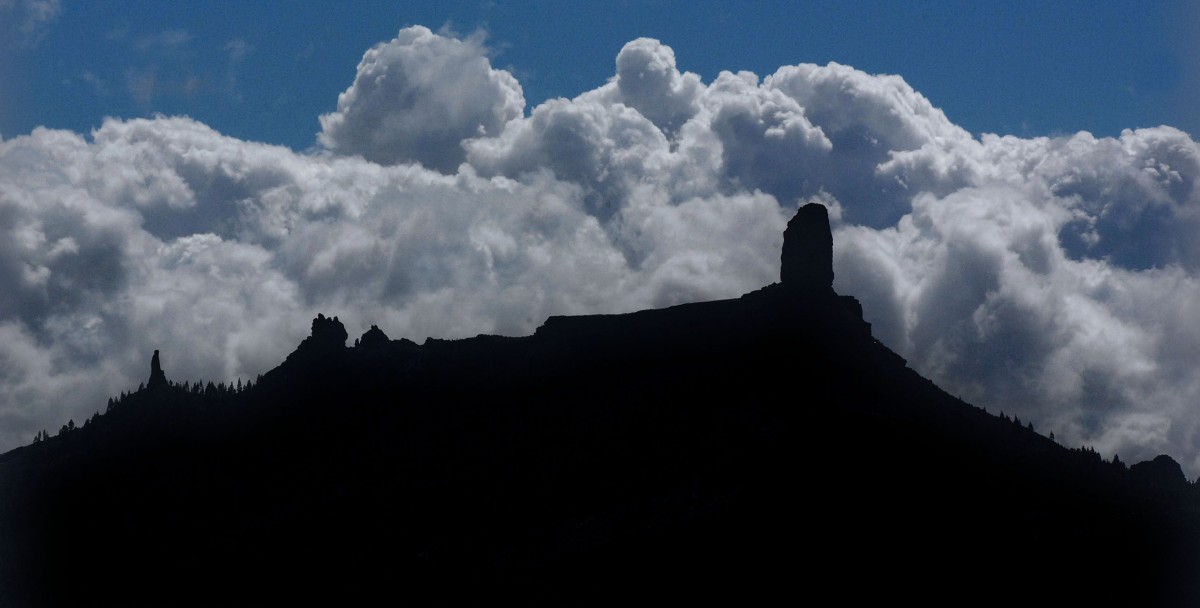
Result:
[[[336,318],[0,456],[0,606],[524,598],[1196,606],[1200,500],[965,404],[830,289],[425,344]]]

